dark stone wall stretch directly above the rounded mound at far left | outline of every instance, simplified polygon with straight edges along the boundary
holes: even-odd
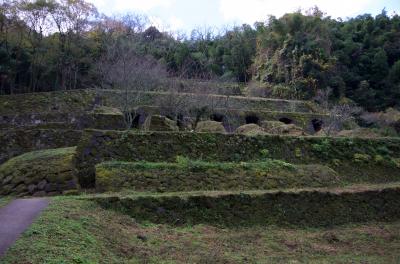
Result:
[[[78,145],[82,131],[69,129],[0,130],[0,164],[26,152]]]

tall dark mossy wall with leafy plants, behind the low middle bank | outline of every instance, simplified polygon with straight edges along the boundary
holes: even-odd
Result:
[[[265,158],[296,164],[324,164],[347,177],[400,176],[400,138],[243,136],[211,133],[132,133],[88,130],[78,145],[82,186],[94,186],[95,165],[103,161],[170,162],[177,156],[204,161]]]

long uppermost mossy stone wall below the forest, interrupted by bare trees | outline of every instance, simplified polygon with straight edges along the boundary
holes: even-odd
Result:
[[[157,105],[165,92],[142,93],[140,105]],[[179,96],[193,98],[195,95],[182,93]],[[118,107],[121,95],[115,90],[71,90],[0,96],[0,115],[31,113],[79,113],[93,110],[95,105]],[[259,109],[283,112],[316,112],[318,109],[309,101],[252,98],[243,96],[213,96],[213,105],[224,105],[230,109]],[[178,100],[179,101],[179,100]],[[137,106],[137,105],[136,105]],[[133,106],[133,107],[136,107]]]

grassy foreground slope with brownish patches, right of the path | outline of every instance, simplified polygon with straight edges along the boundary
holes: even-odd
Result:
[[[1,263],[398,263],[400,222],[331,229],[138,224],[55,198]]]

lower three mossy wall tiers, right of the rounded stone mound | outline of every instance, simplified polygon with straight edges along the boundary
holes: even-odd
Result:
[[[78,146],[77,168],[83,185],[126,192],[93,200],[140,221],[222,226],[394,221],[400,218],[399,143],[92,130]]]

